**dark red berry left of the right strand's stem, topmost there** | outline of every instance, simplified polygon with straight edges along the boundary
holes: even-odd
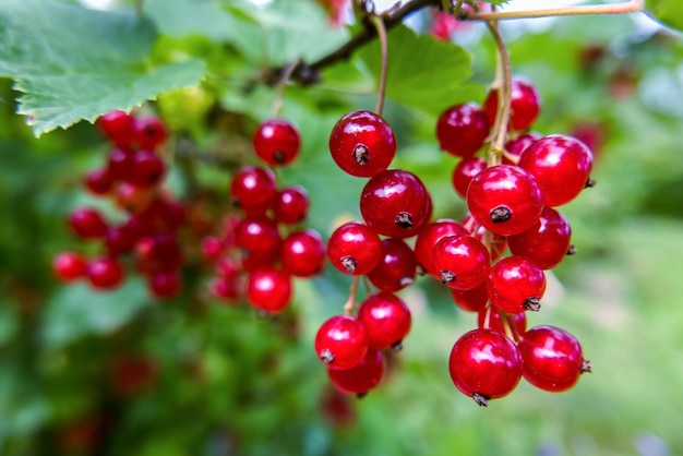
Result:
[[[441,149],[458,157],[471,157],[488,135],[487,115],[474,103],[450,107],[436,122],[436,140]]]

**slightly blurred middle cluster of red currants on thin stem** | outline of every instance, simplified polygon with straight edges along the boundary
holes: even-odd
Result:
[[[256,156],[271,167],[291,164],[300,145],[298,130],[281,119],[266,120],[253,135]],[[218,298],[244,297],[264,314],[283,312],[292,300],[292,277],[312,277],[325,261],[322,236],[302,227],[308,193],[300,185],[278,189],[273,170],[249,165],[232,176],[230,196],[242,215],[224,235],[202,242],[204,256],[216,264],[211,290]]]

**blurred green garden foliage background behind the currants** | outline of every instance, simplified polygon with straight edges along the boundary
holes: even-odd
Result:
[[[179,156],[169,178],[179,197],[204,204],[211,195],[218,219],[231,211],[230,170],[255,163],[244,144],[275,97],[249,82],[264,52],[269,64],[314,59],[348,34],[311,2],[146,0],[144,12],[158,31],[155,64],[191,57],[208,69],[200,87],[166,92],[143,109],[196,151],[228,158],[219,169]],[[385,117],[399,144],[394,165],[424,180],[435,217],[459,218],[455,160],[439,152],[434,123],[451,104],[482,101],[494,49],[481,24],[453,32],[462,47],[438,41],[432,19],[410,19],[419,35],[390,34],[396,73]],[[428,277],[402,293],[412,333],[362,400],[331,388],[312,348],[350,285],[332,268],[298,281],[291,309],[271,319],[212,299],[196,263],[169,301],[135,278],[108,293],[61,285],[50,269],[56,253],[97,251],[69,232],[68,213],[97,204],[117,217],[81,183],[107,145],[87,122],[36,140],[15,113],[11,81],[0,80],[0,454],[683,454],[683,40],[645,17],[518,22],[502,32],[514,73],[542,95],[535,130],[575,134],[597,156],[598,185],[562,208],[578,254],[554,271],[542,311],[529,315],[529,325],[576,335],[592,375],[556,395],[523,381],[477,407],[447,373],[451,347],[475,317]],[[426,56],[421,64],[415,52]],[[310,225],[325,236],[334,220],[360,217],[364,181],[336,168],[327,137],[342,115],[374,105],[378,61],[375,44],[326,69],[321,84],[285,91],[281,116],[299,127],[303,152],[278,177],[309,190]]]

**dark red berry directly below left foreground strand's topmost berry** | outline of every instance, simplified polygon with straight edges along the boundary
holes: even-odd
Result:
[[[360,195],[360,213],[380,235],[409,238],[429,217],[430,195],[412,172],[387,169],[368,181]]]

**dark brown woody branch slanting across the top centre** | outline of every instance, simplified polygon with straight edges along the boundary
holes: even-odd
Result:
[[[384,23],[386,31],[392,29],[400,24],[408,15],[428,7],[439,7],[441,0],[412,0],[404,4],[391,14],[382,15],[380,19]],[[323,56],[312,63],[300,62],[291,74],[291,80],[303,85],[313,84],[320,81],[320,72],[326,67],[331,67],[342,60],[347,60],[358,48],[372,41],[378,36],[378,31],[371,24],[366,24],[358,34],[354,35],[348,41],[338,49]],[[281,75],[286,71],[287,65],[266,69],[261,80],[267,85],[276,85],[281,81]]]

